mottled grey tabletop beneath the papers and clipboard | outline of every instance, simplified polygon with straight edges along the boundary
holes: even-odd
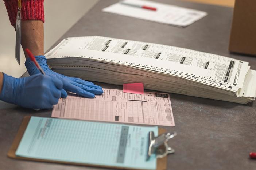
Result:
[[[229,56],[248,61],[251,68],[256,69],[255,57],[228,52],[232,8],[173,0],[157,1],[206,11],[208,16],[186,28],[172,27],[131,17],[103,13],[101,9],[115,3],[116,0],[101,0],[56,44],[66,37],[108,36],[179,46]],[[104,88],[121,89],[121,86],[117,85],[98,84]],[[171,94],[171,103],[176,126],[164,128],[177,131],[178,135],[170,142],[176,152],[168,156],[167,169],[256,169],[256,160],[251,160],[248,156],[250,151],[256,151],[255,102],[242,105]],[[51,110],[36,112],[0,102],[1,170],[97,169],[7,158],[7,152],[20,122],[26,115],[50,117]]]

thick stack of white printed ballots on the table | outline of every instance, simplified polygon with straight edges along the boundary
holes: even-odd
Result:
[[[58,73],[145,89],[246,104],[256,96],[248,62],[161,44],[100,36],[64,39],[46,54]]]

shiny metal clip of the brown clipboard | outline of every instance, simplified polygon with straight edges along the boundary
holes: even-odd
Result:
[[[146,160],[148,160],[152,154],[156,154],[156,158],[163,158],[170,153],[174,153],[175,150],[172,149],[167,142],[169,139],[175,137],[176,134],[176,132],[168,132],[155,137],[154,132],[150,131],[148,133],[148,153]]]

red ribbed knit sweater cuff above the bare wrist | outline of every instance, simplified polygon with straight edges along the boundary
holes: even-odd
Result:
[[[24,20],[41,20],[44,22],[44,0],[21,0],[21,18]],[[17,0],[4,0],[9,19],[12,26],[16,24],[16,15],[18,11]]]

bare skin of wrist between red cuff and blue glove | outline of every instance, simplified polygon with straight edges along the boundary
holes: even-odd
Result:
[[[44,55],[43,22],[40,20],[22,21],[22,48],[28,48],[35,55]],[[26,58],[28,57],[25,53]]]

